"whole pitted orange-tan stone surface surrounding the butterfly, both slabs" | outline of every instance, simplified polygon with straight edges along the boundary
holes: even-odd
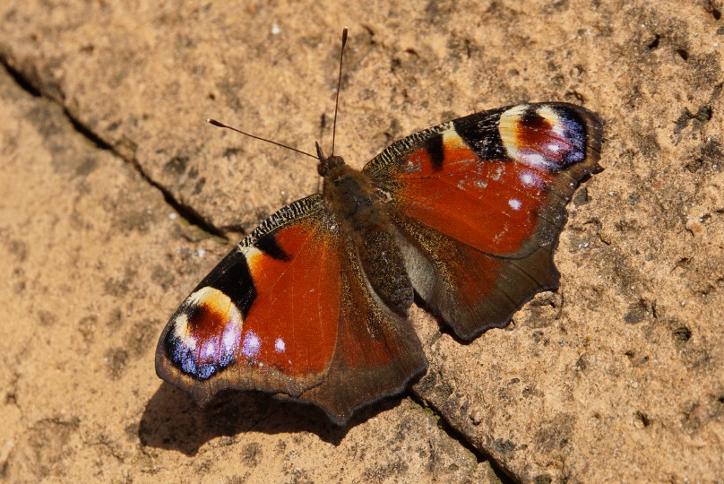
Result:
[[[406,399],[339,430],[255,395],[201,411],[153,373],[181,298],[240,233],[318,184],[305,157],[203,120],[329,146],[349,25],[337,152],[353,166],[427,125],[520,101],[577,102],[606,122],[605,171],[569,205],[561,289],[467,345],[414,311],[430,359],[416,399],[514,480],[720,480],[721,11],[719,0],[0,5],[0,59],[40,94],[2,83],[4,477],[488,475]]]

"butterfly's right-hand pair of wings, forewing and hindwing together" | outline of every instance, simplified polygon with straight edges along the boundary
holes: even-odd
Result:
[[[599,170],[601,136],[584,108],[526,104],[412,134],[366,165],[389,200],[415,290],[462,339],[557,287],[565,204]]]

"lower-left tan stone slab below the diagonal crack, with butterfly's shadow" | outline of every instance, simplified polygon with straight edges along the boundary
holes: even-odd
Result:
[[[185,238],[158,189],[7,73],[0,104],[0,477],[495,481],[409,399],[336,428],[260,395],[202,410],[160,384],[153,350],[178,302],[168,295],[228,247]]]

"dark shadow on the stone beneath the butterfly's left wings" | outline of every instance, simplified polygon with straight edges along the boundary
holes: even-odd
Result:
[[[398,404],[399,398],[378,402],[338,427],[313,405],[277,400],[266,393],[226,391],[202,408],[187,393],[164,383],[143,411],[138,437],[142,445],[189,456],[213,438],[252,431],[270,435],[309,432],[340,445],[350,428]]]

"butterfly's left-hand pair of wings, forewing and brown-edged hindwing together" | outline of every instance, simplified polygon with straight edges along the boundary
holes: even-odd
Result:
[[[203,404],[225,388],[282,393],[344,423],[427,362],[375,299],[320,195],[274,213],[171,317],[156,372]]]

